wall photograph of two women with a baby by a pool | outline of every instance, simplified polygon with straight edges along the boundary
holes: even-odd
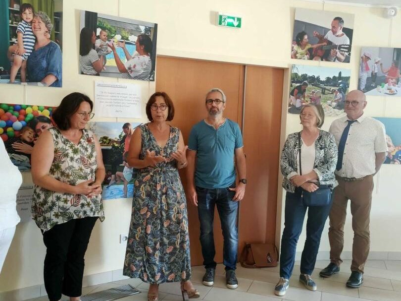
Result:
[[[157,24],[81,11],[79,73],[154,81]]]

